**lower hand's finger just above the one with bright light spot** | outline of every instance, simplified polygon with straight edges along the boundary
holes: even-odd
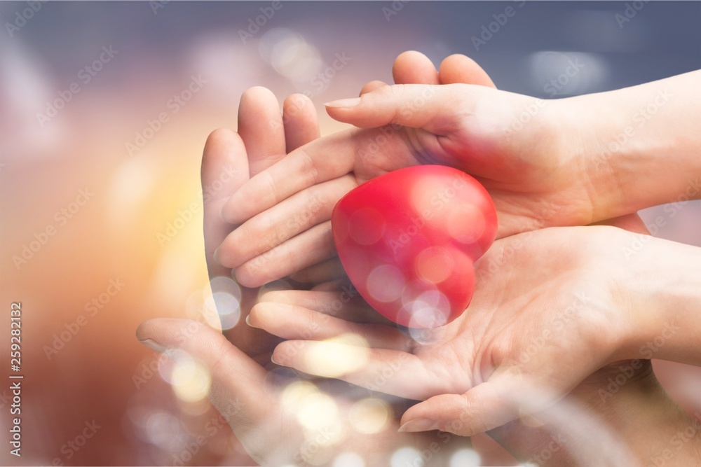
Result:
[[[413,347],[413,341],[393,326],[351,323],[285,303],[257,304],[251,310],[249,323],[283,339],[325,340],[343,334],[357,334],[373,349],[410,351]]]

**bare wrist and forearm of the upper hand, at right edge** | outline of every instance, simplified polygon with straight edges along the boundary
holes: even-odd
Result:
[[[564,133],[583,167],[592,221],[683,198],[701,197],[697,99],[687,88],[698,74],[611,92],[562,99]],[[689,102],[692,101],[692,102]]]

